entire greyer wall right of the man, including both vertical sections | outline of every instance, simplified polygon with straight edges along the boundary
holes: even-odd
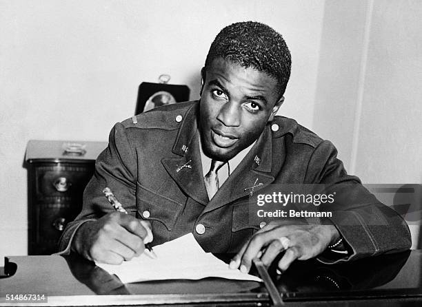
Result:
[[[313,127],[365,183],[422,183],[421,19],[421,1],[325,3]]]

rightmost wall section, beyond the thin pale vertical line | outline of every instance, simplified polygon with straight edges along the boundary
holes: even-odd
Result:
[[[422,182],[422,2],[374,1],[354,169]]]

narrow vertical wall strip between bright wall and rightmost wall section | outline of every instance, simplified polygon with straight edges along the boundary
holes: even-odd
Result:
[[[350,169],[367,1],[326,1],[315,92],[314,131],[331,140]]]

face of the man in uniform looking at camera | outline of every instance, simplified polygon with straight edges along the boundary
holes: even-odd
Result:
[[[222,58],[202,70],[201,138],[207,156],[230,160],[257,140],[284,98],[277,80]]]

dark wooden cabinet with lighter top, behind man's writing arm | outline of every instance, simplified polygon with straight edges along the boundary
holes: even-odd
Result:
[[[28,142],[28,255],[57,252],[64,227],[81,211],[95,159],[106,147],[106,142]]]

